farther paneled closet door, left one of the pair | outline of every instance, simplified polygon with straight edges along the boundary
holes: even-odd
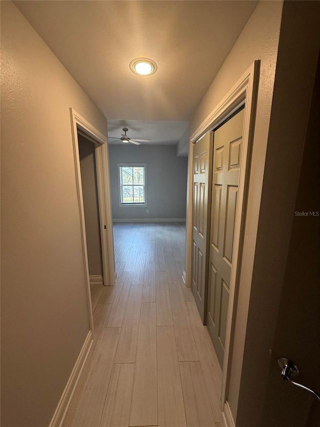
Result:
[[[191,288],[205,324],[208,221],[212,176],[212,132],[205,134],[193,146],[193,211]]]

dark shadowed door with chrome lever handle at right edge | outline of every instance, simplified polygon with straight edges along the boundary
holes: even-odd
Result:
[[[292,379],[320,393],[320,57],[304,145],[281,302],[269,366],[263,427],[318,427],[320,401],[283,381],[277,360],[299,369]]]

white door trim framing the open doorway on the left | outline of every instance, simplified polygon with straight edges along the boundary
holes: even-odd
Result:
[[[78,207],[80,215],[80,228],[81,228],[81,243],[84,273],[86,278],[86,295],[88,302],[88,313],[90,330],[93,334],[93,315],[91,305],[90,293],[90,279],[88,268],[88,256],[85,238],[85,223],[84,223],[84,209],[83,197],[81,186],[80,174],[80,160],[79,160],[79,147],[77,130],[84,133],[89,139],[94,141],[95,144],[95,163],[96,163],[96,176],[97,176],[97,190],[98,190],[98,203],[99,203],[99,216],[100,216],[100,233],[101,233],[101,250],[102,250],[102,266],[104,284],[113,285],[115,279],[114,272],[114,250],[113,250],[113,232],[112,232],[112,217],[111,217],[111,201],[110,201],[110,183],[109,183],[109,164],[108,164],[108,144],[107,138],[95,129],[89,122],[80,116],[73,108],[70,108],[71,118],[71,133],[73,144],[73,157],[75,168],[75,182],[76,191],[78,196]],[[106,226],[106,229],[104,228]]]

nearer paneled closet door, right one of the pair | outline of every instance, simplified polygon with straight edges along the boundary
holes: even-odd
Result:
[[[244,109],[214,131],[207,328],[222,367]]]

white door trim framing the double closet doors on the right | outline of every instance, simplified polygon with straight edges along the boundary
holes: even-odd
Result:
[[[231,339],[234,330],[232,322],[233,308],[235,306],[235,289],[238,282],[239,265],[242,253],[242,225],[244,223],[246,208],[246,193],[248,188],[248,169],[250,164],[251,140],[253,135],[253,125],[255,117],[255,101],[257,94],[257,80],[259,71],[259,61],[254,61],[242,77],[236,82],[231,90],[226,94],[222,101],[211,111],[201,125],[190,137],[189,159],[192,159],[193,144],[207,131],[213,130],[226,120],[239,107],[245,104],[244,123],[243,123],[243,146],[240,160],[240,175],[238,187],[238,202],[235,213],[233,254],[234,261],[230,277],[230,297],[228,304],[228,316],[226,322],[225,350],[222,369],[221,386],[221,409],[224,409],[226,401],[228,376],[230,372],[230,350]],[[192,162],[188,164],[188,200],[192,200]],[[192,240],[192,203],[187,206],[186,218],[186,282],[187,286],[191,283],[191,240]]]

